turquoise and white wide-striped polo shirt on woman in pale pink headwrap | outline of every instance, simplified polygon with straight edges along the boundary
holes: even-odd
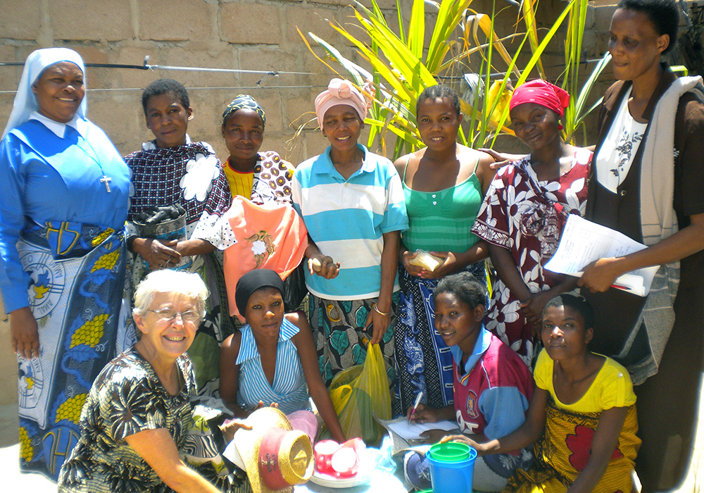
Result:
[[[340,263],[339,275],[326,280],[306,271],[306,285],[325,299],[379,296],[384,233],[408,229],[401,178],[391,161],[363,145],[362,167],[347,180],[335,169],[330,149],[303,161],[293,182],[294,208],[320,252]],[[398,290],[398,279],[394,291]]]

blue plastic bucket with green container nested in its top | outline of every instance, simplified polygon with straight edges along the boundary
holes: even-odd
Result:
[[[441,444],[448,445],[448,444]],[[430,463],[430,480],[433,493],[472,493],[472,480],[474,480],[474,459],[477,451],[465,444],[466,449],[460,451],[455,448],[436,449],[433,447],[425,454]],[[468,449],[468,450],[467,450]],[[436,454],[439,452],[439,457]],[[468,453],[466,458],[459,458]],[[447,460],[447,459],[454,460]]]

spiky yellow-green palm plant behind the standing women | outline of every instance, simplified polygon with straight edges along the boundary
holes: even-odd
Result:
[[[460,129],[460,139],[472,146],[491,146],[496,137],[502,133],[513,134],[506,126],[508,120],[508,99],[511,82],[520,85],[527,80],[535,69],[539,76],[545,77],[541,55],[554,39],[565,18],[568,19],[565,40],[565,71],[560,78],[571,94],[577,94],[579,80],[579,54],[582,47],[582,32],[586,18],[587,0],[571,0],[560,13],[555,23],[548,29],[543,39],[539,38],[536,26],[537,0],[524,0],[518,23],[525,26],[524,32],[515,32],[500,37],[495,30],[498,12],[496,3],[490,14],[477,13],[470,8],[472,0],[413,0],[410,21],[404,29],[401,18],[401,2],[396,0],[399,32],[396,34],[386,23],[384,15],[375,0],[371,8],[355,2],[353,18],[355,24],[350,27],[330,23],[358,53],[371,65],[366,70],[348,58],[342,56],[332,44],[308,32],[310,39],[325,49],[327,57],[341,65],[350,78],[359,87],[365,80],[375,85],[376,97],[365,120],[370,125],[368,145],[378,140],[381,151],[394,158],[422,146],[415,122],[415,103],[425,87],[436,84],[441,77],[458,77],[465,70],[475,71],[479,79],[479,89],[462,101],[465,113],[465,128]],[[432,4],[437,9],[437,18],[432,30],[427,50],[425,46],[425,8]],[[354,28],[362,30],[365,40],[351,32]],[[300,32],[310,51],[322,63],[337,73],[335,67],[327,60],[315,54],[308,40]],[[517,44],[517,47],[513,47]],[[509,45],[513,55],[510,54]],[[529,46],[530,58],[523,67],[517,65],[524,48]],[[478,61],[476,59],[478,58]],[[474,63],[472,63],[474,60]],[[337,65],[336,65],[337,66]],[[599,71],[605,62],[598,65]],[[595,71],[596,73],[596,71]],[[458,76],[460,75],[460,76]],[[567,110],[565,137],[570,139],[586,113],[591,111],[586,106],[586,96],[596,75],[587,81],[577,101]],[[342,75],[341,75],[342,76]],[[513,78],[513,81],[511,80]],[[493,82],[492,82],[493,80]],[[482,87],[490,87],[482,91]],[[392,140],[395,137],[395,141]],[[389,149],[393,145],[393,151]],[[391,151],[391,152],[389,152]]]

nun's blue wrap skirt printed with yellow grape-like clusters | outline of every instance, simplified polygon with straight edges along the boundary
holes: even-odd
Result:
[[[38,358],[18,356],[20,469],[56,481],[80,435],[83,403],[103,366],[134,343],[122,306],[125,236],[49,222],[17,244],[30,274]]]

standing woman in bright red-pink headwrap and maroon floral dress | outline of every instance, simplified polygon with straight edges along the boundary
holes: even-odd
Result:
[[[501,168],[486,192],[472,232],[489,243],[498,280],[486,328],[532,366],[547,301],[576,286],[574,278],[544,270],[567,214],[584,214],[592,153],[562,142],[560,117],[570,95],[544,80],[513,92],[516,136],[531,154]]]

